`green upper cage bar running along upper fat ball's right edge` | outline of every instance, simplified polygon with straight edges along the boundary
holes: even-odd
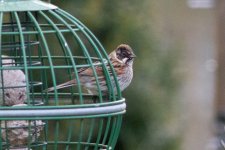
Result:
[[[21,49],[22,49],[22,55],[23,55],[23,62],[24,62],[24,71],[25,71],[25,80],[26,80],[26,95],[27,95],[27,99],[28,99],[28,104],[30,104],[30,94],[29,94],[29,81],[28,81],[28,69],[27,69],[27,60],[26,58],[26,50],[25,50],[25,45],[24,45],[24,37],[23,37],[23,31],[22,31],[22,27],[20,24],[20,19],[18,17],[17,12],[14,12],[14,16],[18,25],[18,29],[20,32],[20,42],[21,42]]]

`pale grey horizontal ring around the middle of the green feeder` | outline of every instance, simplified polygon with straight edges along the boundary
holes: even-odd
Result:
[[[77,106],[77,105],[75,105]],[[84,106],[84,105],[83,105]],[[32,106],[27,107],[10,107],[9,109],[0,110],[0,118],[42,118],[42,117],[84,117],[84,116],[110,116],[112,114],[125,113],[125,100],[119,102],[108,102],[104,104],[93,104],[88,107],[51,107]]]

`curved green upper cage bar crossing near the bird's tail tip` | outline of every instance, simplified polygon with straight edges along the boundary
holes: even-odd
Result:
[[[41,40],[42,40],[42,42],[44,44],[44,48],[45,48],[45,51],[46,51],[46,54],[47,54],[47,57],[48,57],[53,86],[56,86],[57,85],[56,84],[56,76],[55,76],[53,63],[52,63],[52,58],[51,58],[51,53],[49,51],[47,41],[46,41],[45,36],[44,36],[44,34],[43,34],[42,30],[41,30],[41,27],[39,26],[37,20],[33,16],[33,14],[31,12],[28,12],[28,16],[31,18],[31,21],[33,21],[33,23],[36,26],[36,29],[38,30],[38,32],[40,34]],[[55,104],[57,105],[58,104],[58,94],[57,94],[57,91],[54,91],[54,93],[55,93]]]

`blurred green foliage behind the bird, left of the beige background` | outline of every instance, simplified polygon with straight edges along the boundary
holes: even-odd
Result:
[[[52,0],[74,15],[101,41],[108,52],[127,43],[138,56],[134,79],[123,92],[127,113],[118,140],[118,150],[176,150],[180,134],[176,120],[176,90],[179,77],[174,74],[176,48],[162,49],[151,31],[149,0]]]

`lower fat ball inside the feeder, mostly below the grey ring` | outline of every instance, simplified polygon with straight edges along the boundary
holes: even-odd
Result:
[[[26,104],[12,107],[27,106]],[[28,143],[37,141],[45,123],[41,120],[10,120],[1,121],[1,137],[10,145],[10,148],[25,150]]]

